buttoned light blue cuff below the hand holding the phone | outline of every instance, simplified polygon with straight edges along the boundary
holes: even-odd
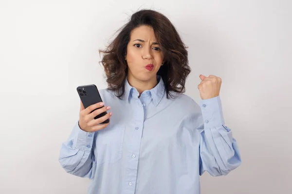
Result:
[[[86,132],[80,129],[79,121],[76,123],[73,130],[75,131],[73,147],[84,151],[91,151],[95,132]]]

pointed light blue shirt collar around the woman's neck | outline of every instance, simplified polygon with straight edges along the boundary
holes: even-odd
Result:
[[[163,82],[163,79],[161,78],[161,76],[157,75],[157,81],[158,81],[158,84],[154,88],[143,92],[143,94],[146,93],[148,95],[151,95],[155,106],[157,106],[159,104],[159,102],[161,101],[161,99],[163,98],[164,93],[165,93],[165,85],[164,85],[164,82]],[[125,99],[128,100],[128,102],[129,102],[133,95],[138,97],[139,93],[138,93],[136,88],[130,86],[130,84],[128,82],[128,78],[126,78],[126,80],[125,80]]]

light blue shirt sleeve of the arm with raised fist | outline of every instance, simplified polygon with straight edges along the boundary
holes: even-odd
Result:
[[[237,141],[225,126],[220,97],[200,102],[203,124],[200,136],[200,175],[227,175],[241,164]]]

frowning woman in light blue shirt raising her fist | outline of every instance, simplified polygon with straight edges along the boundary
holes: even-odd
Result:
[[[221,79],[200,75],[200,105],[183,94],[187,51],[164,15],[136,12],[101,52],[104,103],[81,103],[79,125],[59,156],[68,173],[92,179],[89,194],[200,194],[204,171],[220,176],[239,166],[224,125]]]

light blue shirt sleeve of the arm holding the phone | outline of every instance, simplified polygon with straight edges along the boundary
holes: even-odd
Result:
[[[92,152],[95,132],[86,132],[77,122],[67,141],[61,145],[59,162],[66,172],[78,177],[94,178],[96,161]]]

